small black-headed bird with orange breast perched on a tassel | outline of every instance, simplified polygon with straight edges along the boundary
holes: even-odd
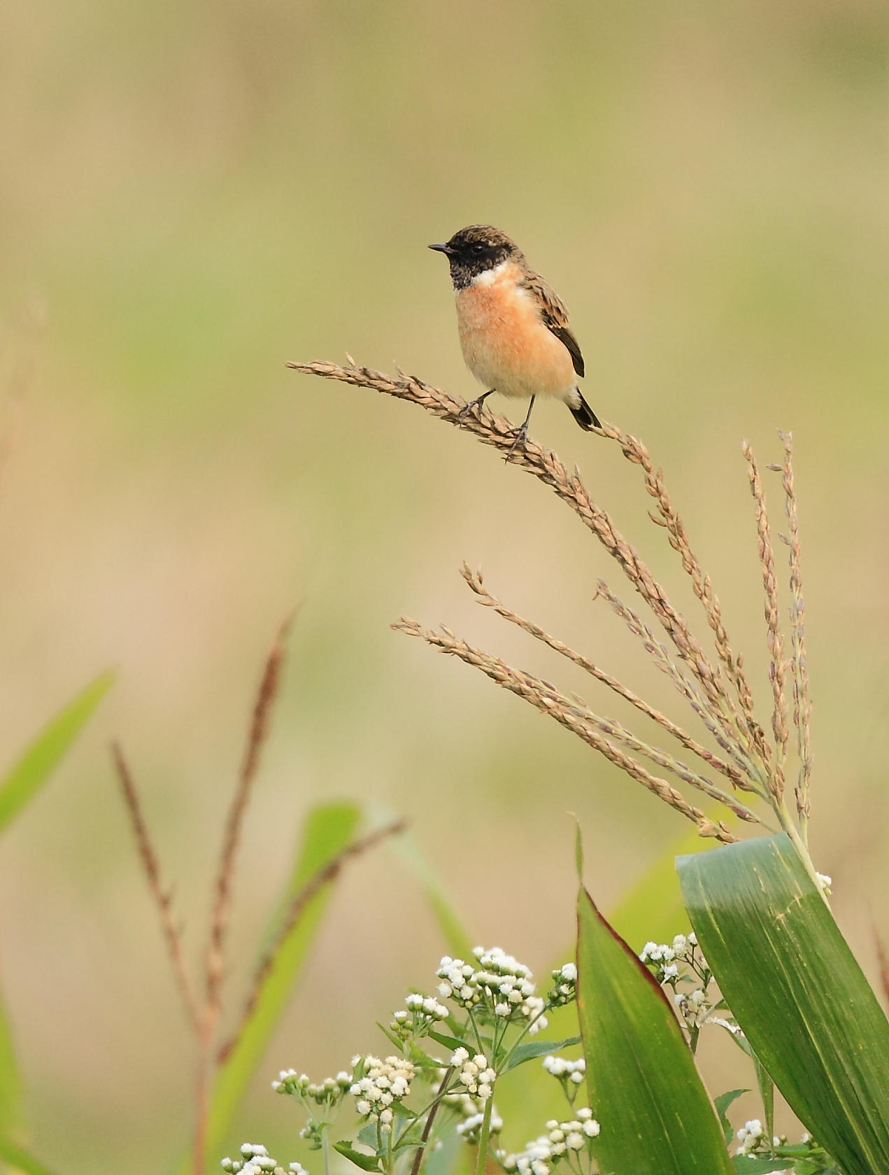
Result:
[[[530,396],[527,416],[513,430],[516,441],[507,461],[525,445],[538,396],[566,403],[581,429],[601,428],[578,388],[584,356],[568,327],[568,311],[516,242],[492,224],[467,224],[450,241],[429,248],[447,257],[463,357],[487,389],[460,416],[478,410],[496,391]]]

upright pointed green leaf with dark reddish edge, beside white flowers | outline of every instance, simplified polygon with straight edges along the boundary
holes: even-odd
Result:
[[[577,991],[601,1170],[732,1175],[719,1120],[667,998],[585,889]]]

